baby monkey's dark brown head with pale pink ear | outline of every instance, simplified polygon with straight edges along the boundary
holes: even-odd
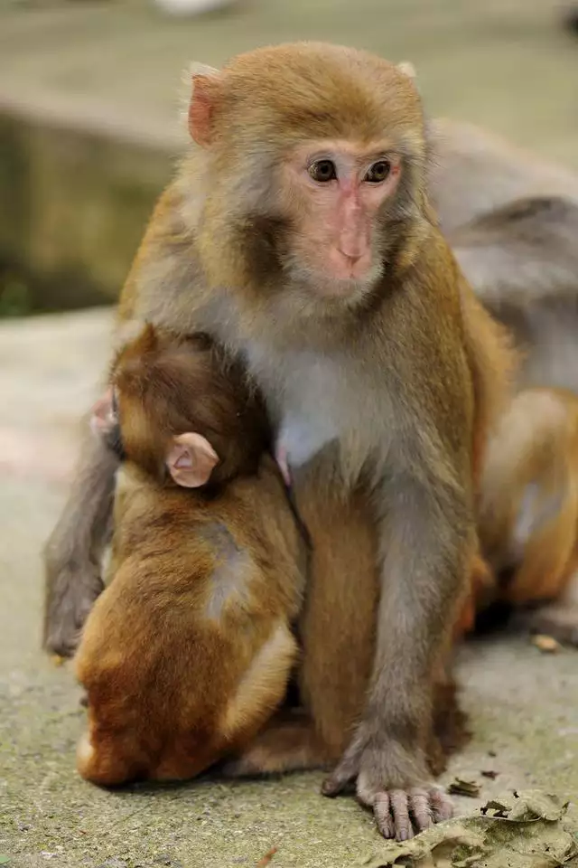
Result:
[[[196,488],[256,472],[270,446],[265,409],[208,335],[146,325],[120,351],[93,429],[158,481]]]

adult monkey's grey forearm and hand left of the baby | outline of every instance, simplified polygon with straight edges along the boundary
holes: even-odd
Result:
[[[79,629],[103,589],[100,561],[111,531],[117,467],[114,453],[87,431],[69,498],[44,550],[43,644],[62,656],[74,653]]]

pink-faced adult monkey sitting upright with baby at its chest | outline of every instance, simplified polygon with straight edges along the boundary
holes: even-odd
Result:
[[[422,107],[405,71],[321,43],[250,52],[193,75],[189,128],[191,152],[120,301],[118,337],[124,323],[149,320],[207,332],[242,360],[305,524],[312,514],[327,523],[322,539],[309,526],[313,551],[347,529],[325,503],[340,501],[347,523],[361,499],[375,559],[359,576],[353,542],[348,580],[363,589],[378,575],[375,651],[359,725],[323,791],[355,781],[381,832],[406,838],[452,812],[427,764],[433,685],[477,551],[476,480],[508,349],[437,225]],[[93,554],[113,469],[93,446],[77,482],[83,505],[70,505]],[[318,557],[309,578],[300,672],[328,741],[340,703],[350,710],[336,646],[338,656],[359,651],[341,644],[352,595],[346,605],[332,593],[329,562]],[[83,580],[96,596],[96,566]],[[61,576],[49,610],[68,585]]]

